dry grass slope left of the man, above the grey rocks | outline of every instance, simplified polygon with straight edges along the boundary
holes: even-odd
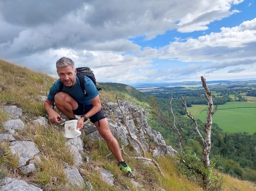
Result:
[[[39,95],[46,95],[55,79],[0,60],[0,105],[17,105],[29,117],[46,115]]]

